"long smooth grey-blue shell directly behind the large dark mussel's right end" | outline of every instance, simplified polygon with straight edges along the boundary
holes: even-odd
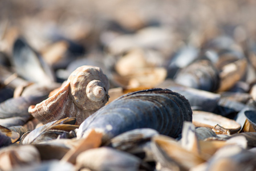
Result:
[[[216,109],[218,101],[221,97],[217,93],[181,86],[170,79],[165,80],[165,82],[159,84],[157,87],[168,88],[174,92],[180,93],[182,96],[188,99],[189,104],[193,109],[206,112],[213,112]]]

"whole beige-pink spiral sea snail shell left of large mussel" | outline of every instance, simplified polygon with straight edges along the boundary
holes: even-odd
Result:
[[[62,88],[29,112],[43,124],[64,117],[76,117],[80,125],[108,101],[109,82],[99,67],[77,68]]]

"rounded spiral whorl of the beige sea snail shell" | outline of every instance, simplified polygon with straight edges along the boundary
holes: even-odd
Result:
[[[68,80],[70,80],[70,93],[79,108],[94,110],[107,103],[109,82],[99,67],[79,67],[72,72]]]

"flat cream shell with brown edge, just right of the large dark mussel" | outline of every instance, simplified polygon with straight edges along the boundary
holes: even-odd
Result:
[[[192,117],[193,124],[196,127],[208,127],[213,129],[218,124],[221,125],[221,127],[229,129],[231,133],[238,132],[241,128],[241,125],[234,120],[210,112],[193,111]]]

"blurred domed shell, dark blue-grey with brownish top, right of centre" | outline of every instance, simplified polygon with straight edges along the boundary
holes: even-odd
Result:
[[[214,92],[220,84],[219,72],[209,60],[198,60],[182,68],[174,81],[186,87]]]

